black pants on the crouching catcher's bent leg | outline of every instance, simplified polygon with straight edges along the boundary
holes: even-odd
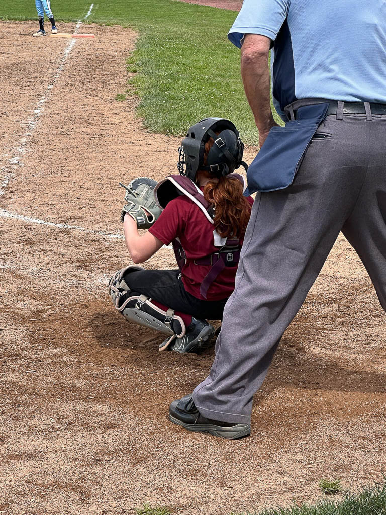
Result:
[[[137,270],[124,276],[132,291],[201,320],[222,320],[227,299],[197,299],[185,290],[180,270]]]

